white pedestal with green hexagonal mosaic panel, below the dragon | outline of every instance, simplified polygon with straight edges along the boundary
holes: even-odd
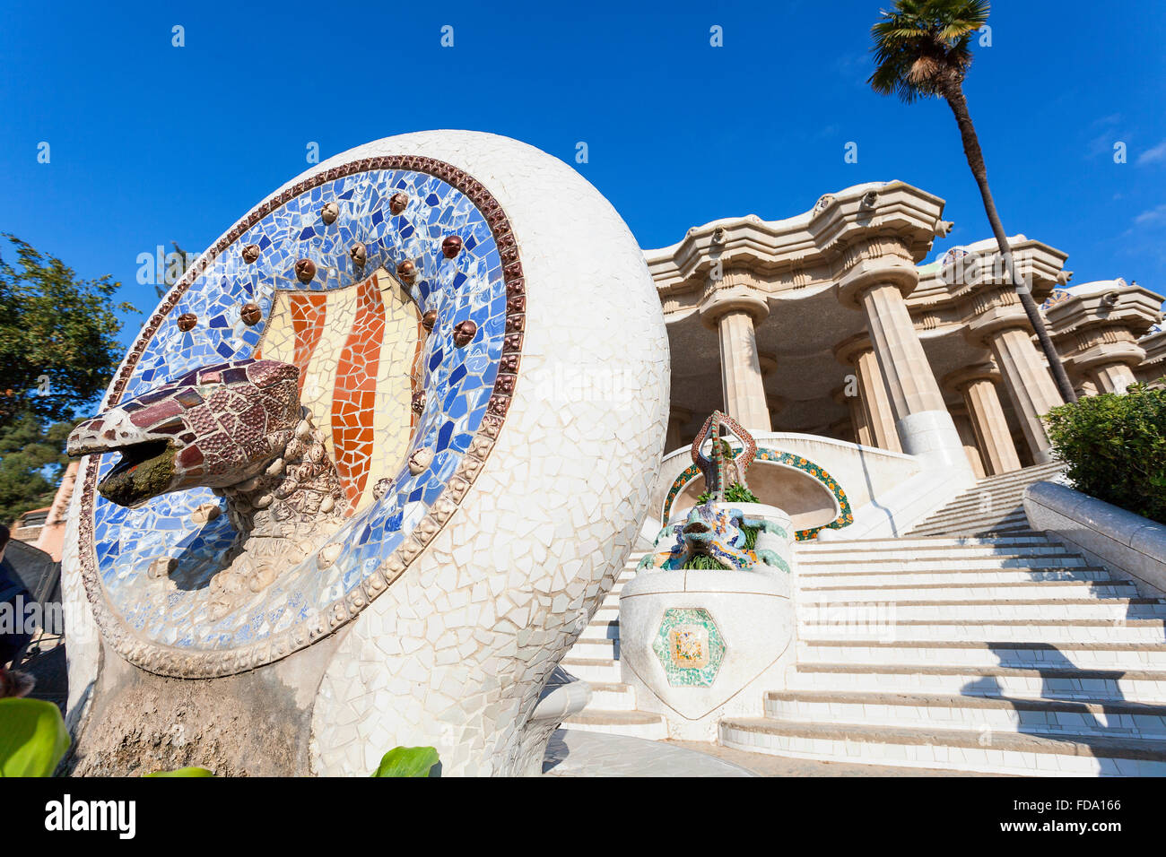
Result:
[[[757,547],[788,564],[788,515],[760,504],[724,507],[784,527],[786,538],[763,532]],[[795,627],[788,571],[644,569],[619,599],[621,677],[641,710],[663,715],[669,738],[715,742],[722,717],[760,717],[764,691],[785,687]]]

